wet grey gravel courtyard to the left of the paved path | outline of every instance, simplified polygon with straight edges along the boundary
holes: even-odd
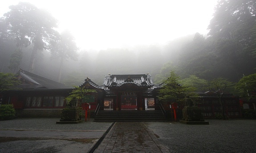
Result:
[[[112,124],[93,122],[93,119],[79,124],[56,124],[56,121],[59,118],[17,118],[0,121],[0,133],[9,135],[0,135],[0,153],[86,153],[97,139],[84,138],[84,133],[104,133]],[[19,135],[13,136],[13,133]],[[58,137],[55,136],[56,133],[59,133]],[[70,133],[77,134],[76,138]],[[100,138],[101,135],[97,137]]]

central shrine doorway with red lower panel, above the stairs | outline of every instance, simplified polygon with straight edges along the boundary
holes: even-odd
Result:
[[[137,110],[137,96],[133,94],[122,95],[121,110]]]

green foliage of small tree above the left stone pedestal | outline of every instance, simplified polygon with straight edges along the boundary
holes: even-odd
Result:
[[[93,92],[97,91],[94,89],[85,89],[84,87],[74,86],[72,92],[65,99],[68,102],[68,105],[76,106],[77,101],[80,102],[81,99],[86,99],[86,95]],[[72,102],[72,104],[70,104],[70,102]]]

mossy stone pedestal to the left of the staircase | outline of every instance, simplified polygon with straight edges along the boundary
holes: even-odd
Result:
[[[80,118],[81,110],[78,107],[65,107],[61,111],[61,119],[56,124],[76,124],[82,122]]]

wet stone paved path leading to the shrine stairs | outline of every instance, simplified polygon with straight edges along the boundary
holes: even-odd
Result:
[[[116,122],[94,153],[170,153],[143,122]]]

